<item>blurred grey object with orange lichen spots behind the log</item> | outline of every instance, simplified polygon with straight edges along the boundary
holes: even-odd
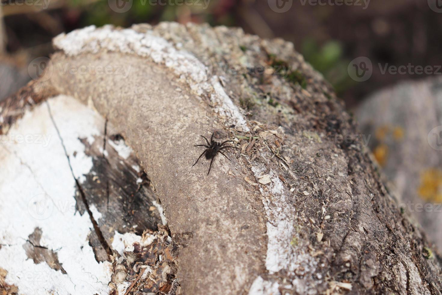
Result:
[[[404,82],[374,93],[356,112],[382,171],[442,250],[442,80]]]

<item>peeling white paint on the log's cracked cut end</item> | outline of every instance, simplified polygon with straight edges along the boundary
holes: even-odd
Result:
[[[80,181],[92,160],[79,138],[94,138],[104,127],[98,114],[67,96],[49,99],[11,126],[8,134],[45,134],[51,139],[47,147],[0,145],[0,267],[8,271],[6,283],[17,286],[20,294],[109,294],[112,265],[95,261],[88,243],[93,226],[87,213],[75,211],[76,183],[48,105]],[[99,218],[98,211],[94,215]],[[36,227],[42,229],[42,246],[57,253],[67,274],[28,259],[23,244]]]

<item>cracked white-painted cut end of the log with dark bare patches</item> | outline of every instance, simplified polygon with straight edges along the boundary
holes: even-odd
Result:
[[[124,128],[72,97],[42,102],[34,90],[2,108],[24,111],[0,147],[6,283],[19,294],[124,294],[143,267],[132,290],[167,293],[176,272],[171,239]],[[30,111],[20,101],[39,104]]]

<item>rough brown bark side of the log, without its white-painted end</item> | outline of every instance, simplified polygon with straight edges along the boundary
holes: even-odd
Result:
[[[225,27],[161,23],[126,30],[88,27],[57,37],[54,45],[47,80],[36,84],[75,97],[108,124],[129,128],[122,137],[163,205],[172,242],[171,255],[165,251],[164,257],[176,265],[176,274],[168,269],[183,294],[440,294],[441,257],[406,213],[391,210],[396,201],[362,147],[354,121],[291,43]],[[257,66],[267,71],[257,73]],[[10,127],[26,119],[16,114],[3,108],[4,134],[27,126]],[[91,132],[84,123],[78,128]],[[227,153],[231,162],[217,157],[207,176],[207,161],[191,167],[202,152],[193,145],[201,142],[199,134],[212,131],[219,141],[235,139],[240,150]],[[351,142],[340,142],[342,135]],[[84,142],[76,140],[86,154]],[[90,167],[72,169],[77,187],[83,187]],[[72,176],[63,187],[72,187],[65,195],[75,196]],[[103,193],[102,184],[97,189]],[[89,211],[84,228],[93,223],[94,210]],[[34,230],[29,226],[22,235],[26,239]],[[115,230],[113,243],[112,234],[102,231],[98,238],[104,250],[118,249],[115,236],[122,233]],[[92,250],[97,247],[88,244],[83,249],[97,268],[92,273],[103,276],[98,268],[109,262],[97,259],[106,254],[98,256]],[[69,275],[60,251],[58,261]],[[122,257],[127,261],[130,255]],[[8,259],[0,265],[6,271],[15,265]],[[141,276],[139,268],[136,273]],[[177,282],[171,276],[163,282],[169,287]],[[20,280],[7,275],[6,283]]]

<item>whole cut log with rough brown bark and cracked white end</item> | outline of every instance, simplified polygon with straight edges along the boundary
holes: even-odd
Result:
[[[293,44],[161,23],[87,27],[54,46],[46,76],[0,108],[3,134],[56,138],[0,151],[7,286],[35,286],[14,272],[46,261],[55,282],[45,290],[63,294],[63,284],[173,294],[177,279],[182,294],[440,294],[441,257],[397,209],[354,121]],[[207,175],[204,158],[192,167],[202,152],[193,145],[213,131],[239,149]],[[140,188],[126,189],[134,181]],[[45,198],[75,199],[80,214],[53,213],[59,224],[14,218]],[[122,205],[124,221],[96,209],[107,202]],[[163,209],[170,233],[152,226]]]

